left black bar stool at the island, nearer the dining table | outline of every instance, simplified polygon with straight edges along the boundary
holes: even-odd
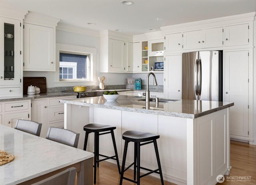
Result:
[[[99,167],[99,162],[101,162],[101,161],[105,161],[107,159],[116,160],[119,174],[121,173],[119,160],[118,160],[117,149],[116,149],[114,129],[116,129],[116,127],[113,127],[113,126],[110,126],[110,125],[101,125],[101,124],[96,124],[96,123],[90,123],[90,124],[84,126],[84,131],[86,131],[85,132],[85,139],[84,139],[84,150],[86,150],[89,133],[94,132],[94,184],[96,183],[97,167]],[[104,131],[109,131],[109,132],[104,132]],[[100,133],[100,132],[104,132],[104,133]],[[104,135],[104,134],[108,134],[108,133],[111,133],[112,141],[113,141],[113,145],[114,145],[115,155],[112,156],[112,157],[108,157],[106,155],[99,154],[99,136]],[[99,160],[99,156],[102,156],[102,157],[105,157],[105,158]],[[116,158],[114,158],[114,157],[116,157]],[[96,165],[97,165],[97,167],[96,167]]]

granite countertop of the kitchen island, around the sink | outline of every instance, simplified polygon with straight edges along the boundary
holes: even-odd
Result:
[[[79,99],[60,100],[73,105],[100,107],[122,111],[167,115],[173,117],[197,118],[234,105],[222,101],[198,101],[180,99],[170,102],[140,101],[142,97],[120,95],[116,101],[106,101],[103,96],[85,97]],[[147,108],[147,109],[146,109]]]

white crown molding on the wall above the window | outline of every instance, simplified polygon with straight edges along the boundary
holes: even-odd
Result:
[[[58,23],[56,30],[71,32],[76,34],[88,35],[93,37],[100,37],[100,32],[96,30],[89,30],[86,28],[76,27],[69,24]]]

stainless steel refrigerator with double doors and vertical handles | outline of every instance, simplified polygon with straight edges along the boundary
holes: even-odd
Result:
[[[222,101],[222,51],[182,54],[182,99]]]

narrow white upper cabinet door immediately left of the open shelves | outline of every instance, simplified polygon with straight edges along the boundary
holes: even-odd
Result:
[[[133,72],[141,72],[141,42],[133,43]]]

